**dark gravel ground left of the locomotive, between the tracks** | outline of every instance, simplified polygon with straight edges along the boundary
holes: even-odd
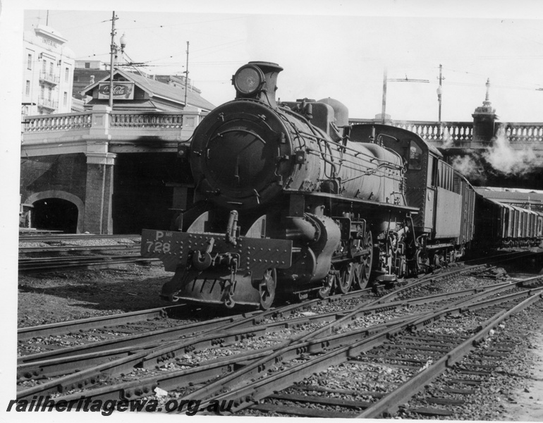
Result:
[[[157,262],[19,276],[18,326],[164,307],[159,293],[171,275]]]

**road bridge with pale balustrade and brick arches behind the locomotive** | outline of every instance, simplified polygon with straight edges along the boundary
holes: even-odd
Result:
[[[21,203],[34,207],[33,221],[56,221],[59,230],[134,233],[142,225],[169,227],[185,209],[187,169],[176,157],[205,116],[199,111],[142,112],[96,105],[74,114],[26,116],[22,126]],[[500,123],[495,115],[469,122],[386,121],[420,135],[447,154],[505,147],[539,164],[543,123]],[[350,119],[350,123],[381,123]],[[496,136],[497,135],[497,136]],[[145,199],[145,200],[144,200]],[[58,216],[57,216],[58,215]],[[51,216],[57,216],[51,218]]]

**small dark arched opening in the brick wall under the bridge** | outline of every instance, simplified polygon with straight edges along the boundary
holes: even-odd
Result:
[[[44,198],[32,204],[32,226],[48,231],[77,233],[78,207],[61,198]]]

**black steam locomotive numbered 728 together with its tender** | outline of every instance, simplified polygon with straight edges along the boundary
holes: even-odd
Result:
[[[180,157],[192,206],[175,230],[142,231],[142,256],[175,272],[161,296],[267,309],[324,298],[463,256],[475,191],[414,133],[349,125],[333,99],[276,100],[283,69],[250,62],[236,98],[211,111]]]

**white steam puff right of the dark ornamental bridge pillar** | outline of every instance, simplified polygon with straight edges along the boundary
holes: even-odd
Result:
[[[482,153],[484,159],[499,173],[522,176],[542,166],[542,158],[537,157],[532,148],[523,145],[522,149],[513,148],[503,127],[499,128],[492,145]]]

